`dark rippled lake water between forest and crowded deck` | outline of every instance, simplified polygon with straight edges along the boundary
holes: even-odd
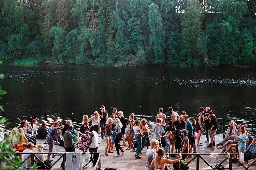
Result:
[[[134,112],[151,123],[159,107],[169,120],[170,106],[194,117],[200,107],[209,106],[218,118],[218,133],[226,119],[242,122],[251,133],[255,127],[255,69],[0,66],[0,72],[8,92],[0,116],[12,122],[7,128],[36,118],[48,124],[70,119],[78,129],[82,115],[90,116],[102,104],[108,115],[117,108],[125,117]]]

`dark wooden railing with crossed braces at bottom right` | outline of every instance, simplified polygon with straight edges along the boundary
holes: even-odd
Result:
[[[169,154],[166,154],[166,155],[176,155],[176,156],[179,156],[178,153],[176,153],[176,154],[173,154],[173,153],[170,154],[169,153]],[[194,161],[196,159],[196,170],[202,169],[202,167],[200,168],[200,161],[203,161],[204,163],[206,163],[210,168],[212,168],[212,170],[216,170],[216,169],[218,169],[218,167],[220,165],[222,165],[228,159],[228,157],[226,157],[225,159],[223,159],[223,161],[218,166],[213,167],[202,157],[203,155],[211,155],[210,153],[188,153],[188,154],[184,154],[184,155],[192,155],[193,156],[193,158],[191,160],[189,160],[188,163],[186,163],[186,165],[189,165],[192,161]],[[219,155],[227,156],[227,153],[220,153]],[[232,170],[232,166],[233,166],[233,160],[232,159],[234,159],[236,162],[240,163],[241,166],[242,166],[241,168],[244,168],[244,170],[249,170],[249,168],[252,167],[252,165],[256,162],[256,160],[254,160],[250,166],[246,167],[236,158],[237,155],[239,155],[239,153],[230,153],[229,170]],[[244,155],[256,155],[256,153],[244,153]],[[184,169],[185,166],[181,167],[180,170]],[[251,169],[255,169],[255,167],[253,167]]]

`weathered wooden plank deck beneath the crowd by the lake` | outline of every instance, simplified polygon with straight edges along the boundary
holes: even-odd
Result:
[[[209,143],[205,143],[205,136],[204,138],[201,138],[201,141],[203,143],[203,146],[197,146],[197,153],[220,153],[221,150],[218,150],[216,147],[212,147],[212,148],[208,148],[206,147],[207,144]],[[219,143],[222,140],[222,134],[220,135],[216,135],[216,144]],[[39,143],[44,143],[44,140],[38,140],[37,144]],[[127,147],[124,147],[124,152],[125,154],[120,156],[120,157],[114,157],[114,155],[116,155],[116,151],[113,151],[114,153],[108,153],[109,156],[104,155],[105,152],[105,146],[106,143],[104,141],[101,140],[101,138],[99,138],[99,149],[98,152],[101,153],[101,168],[104,169],[106,167],[112,167],[112,168],[118,168],[120,170],[146,170],[146,148],[144,147],[142,154],[140,154],[140,156],[142,157],[141,159],[135,159],[135,153],[134,152],[130,152],[131,150],[126,151],[125,149]],[[121,141],[120,143],[122,144],[123,141]],[[127,141],[126,141],[126,145],[127,145]],[[79,152],[80,150],[78,150],[76,148],[76,152]],[[34,148],[34,152],[37,152],[37,148]],[[48,152],[47,150],[44,150],[44,152]],[[53,152],[65,152],[64,148],[61,146],[57,146],[54,145],[53,147]],[[193,156],[194,157],[194,156]],[[193,158],[192,157],[192,158]],[[212,158],[209,155],[202,155],[202,158],[204,158],[212,167],[215,167],[216,163],[221,163],[226,156],[221,156],[218,155],[216,158]],[[52,160],[57,160],[59,157],[55,157]],[[170,159],[177,159],[178,157],[170,157]],[[187,158],[186,162],[188,162],[189,160],[191,160],[192,158]],[[59,161],[56,165],[53,166],[52,169],[59,169],[61,164],[61,161]],[[225,166],[227,165],[228,162],[224,162],[222,165]],[[200,159],[200,169],[204,168],[204,166],[206,165],[206,163]],[[244,169],[243,167],[236,167],[236,164],[233,163],[233,168],[232,169]],[[171,165],[172,167],[172,165]],[[88,168],[88,169],[93,169],[93,168]],[[173,168],[172,168],[173,169]],[[189,164],[189,169],[196,169],[196,159],[194,159],[190,164]],[[250,167],[249,169],[252,170],[256,170],[256,167]]]

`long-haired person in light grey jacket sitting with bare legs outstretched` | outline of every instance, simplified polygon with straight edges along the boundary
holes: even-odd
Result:
[[[225,144],[228,140],[235,140],[234,137],[236,136],[236,126],[234,121],[230,121],[228,125],[228,129],[226,131],[225,138],[218,144],[216,144],[216,147]],[[223,151],[220,153],[224,153],[226,151],[227,147],[223,146]]]

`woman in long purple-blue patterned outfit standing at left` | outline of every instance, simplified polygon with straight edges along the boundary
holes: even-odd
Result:
[[[58,142],[58,130],[57,128],[59,127],[60,123],[58,121],[54,122],[53,125],[49,128],[48,130],[48,135],[46,137],[46,141],[49,145],[49,153],[52,152],[53,150],[53,143]],[[49,159],[51,154],[47,155],[47,159]],[[52,158],[54,158],[55,155],[52,154]]]

